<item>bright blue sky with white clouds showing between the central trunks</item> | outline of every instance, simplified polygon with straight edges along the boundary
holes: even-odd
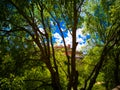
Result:
[[[53,25],[53,22],[51,21],[51,26]],[[65,42],[66,44],[70,44],[72,46],[72,36],[70,34],[70,32],[68,30],[66,30],[66,26],[65,26],[65,23],[64,22],[61,22],[60,23],[60,27],[64,33],[64,38],[65,38]],[[54,26],[54,31],[53,31],[53,41],[55,43],[55,45],[63,45],[63,40],[62,40],[62,37],[61,37],[61,33],[60,33],[60,30],[58,29],[58,26],[55,25]],[[77,50],[81,50],[82,47],[84,47],[86,45],[86,40],[90,38],[90,35],[87,34],[87,35],[83,35],[82,34],[82,31],[83,31],[83,28],[78,28],[77,31],[76,31],[76,38],[77,38],[77,42],[78,42],[78,45],[77,45]]]

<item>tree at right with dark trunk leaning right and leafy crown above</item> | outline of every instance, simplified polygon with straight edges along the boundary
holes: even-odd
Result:
[[[111,51],[114,50],[114,47],[119,46],[119,39],[120,39],[118,35],[120,31],[118,26],[119,20],[115,20],[114,18],[115,21],[113,20],[113,22],[111,22],[111,19],[113,19],[113,17],[111,17],[112,14],[109,13],[109,11],[112,10],[110,9],[110,6],[114,5],[114,3],[116,2],[118,1],[116,0],[112,2],[107,0],[106,1],[101,0],[101,2],[97,2],[97,3],[101,3],[102,6],[100,4],[97,4],[95,6],[93,5],[93,8],[95,9],[95,13],[87,12],[87,16],[88,16],[88,21],[87,21],[88,23],[86,24],[86,26],[88,27],[87,30],[93,37],[92,38],[94,40],[93,43],[95,43],[95,45],[103,47],[98,63],[95,65],[90,76],[86,80],[86,84],[87,84],[87,81],[90,79],[90,83],[87,88],[88,90],[92,89],[94,83],[96,82],[96,78],[99,75],[100,70],[102,69],[103,64],[105,64],[108,61],[108,59],[110,59],[108,58],[109,53],[112,53]],[[85,84],[85,88],[86,88],[86,84]]]

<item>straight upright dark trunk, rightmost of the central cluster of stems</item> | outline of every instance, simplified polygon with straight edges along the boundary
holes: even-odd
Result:
[[[77,90],[78,85],[78,71],[76,70],[76,30],[77,30],[77,24],[78,24],[78,11],[76,9],[76,0],[73,2],[73,10],[74,10],[74,26],[72,27],[72,55],[71,55],[71,74],[70,74],[70,80],[69,80],[69,86],[68,90]]]

